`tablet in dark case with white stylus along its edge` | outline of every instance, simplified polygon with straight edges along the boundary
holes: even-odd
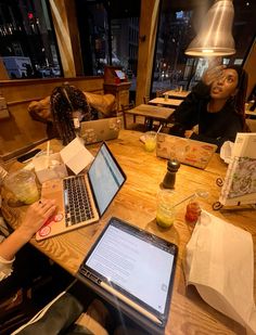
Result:
[[[175,244],[111,218],[77,276],[151,334],[157,334],[169,314],[177,254]]]

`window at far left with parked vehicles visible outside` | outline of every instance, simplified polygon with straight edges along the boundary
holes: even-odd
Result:
[[[0,56],[10,79],[61,76],[46,0],[0,0]]]

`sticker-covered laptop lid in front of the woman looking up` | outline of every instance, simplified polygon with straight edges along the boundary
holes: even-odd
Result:
[[[205,169],[217,145],[158,133],[156,140],[156,156],[169,159],[177,158],[180,163]]]

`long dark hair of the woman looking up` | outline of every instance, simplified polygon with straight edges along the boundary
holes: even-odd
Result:
[[[245,124],[245,113],[244,113],[244,104],[246,100],[246,91],[247,91],[247,83],[248,83],[248,75],[245,69],[243,69],[239,65],[228,65],[227,68],[234,69],[239,75],[239,82],[236,86],[238,93],[231,99],[234,112],[240,116],[243,130],[246,130]]]

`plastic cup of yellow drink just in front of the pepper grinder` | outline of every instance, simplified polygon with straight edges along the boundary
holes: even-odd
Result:
[[[175,192],[161,190],[157,195],[156,222],[159,227],[169,228],[175,221],[174,198]]]

